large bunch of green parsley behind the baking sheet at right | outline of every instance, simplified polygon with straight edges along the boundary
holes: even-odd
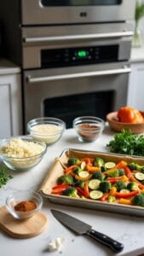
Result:
[[[144,156],[144,136],[121,131],[107,144],[110,152]]]

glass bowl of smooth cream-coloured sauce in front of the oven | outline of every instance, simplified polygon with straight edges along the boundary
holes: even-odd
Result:
[[[30,132],[32,137],[47,145],[60,140],[65,129],[65,122],[55,118],[32,119],[27,124],[27,131]]]

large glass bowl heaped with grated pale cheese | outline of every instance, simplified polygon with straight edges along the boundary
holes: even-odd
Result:
[[[0,157],[14,171],[25,171],[36,166],[46,153],[46,143],[31,136],[10,137],[0,142]]]

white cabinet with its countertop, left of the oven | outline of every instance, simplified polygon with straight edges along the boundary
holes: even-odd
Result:
[[[0,138],[22,132],[20,68],[0,61]]]

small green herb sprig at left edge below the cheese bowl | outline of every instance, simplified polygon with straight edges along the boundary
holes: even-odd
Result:
[[[4,166],[3,164],[0,165],[0,189],[9,182],[9,179],[13,178],[12,175],[9,175],[9,168]]]

